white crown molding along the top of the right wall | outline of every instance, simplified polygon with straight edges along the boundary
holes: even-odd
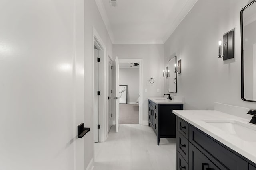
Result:
[[[190,10],[194,7],[198,0],[188,0],[186,4],[184,5],[181,12],[178,14],[176,20],[170,27],[169,31],[164,35],[163,42],[166,43],[166,41],[169,39],[169,37],[172,35],[172,33],[175,31],[175,29],[180,25],[180,23],[184,20],[184,18],[188,15]],[[186,12],[187,11],[187,12]]]

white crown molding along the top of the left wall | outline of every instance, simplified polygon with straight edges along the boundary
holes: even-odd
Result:
[[[104,24],[105,24],[105,27],[106,27],[106,29],[107,29],[107,31],[108,31],[108,35],[109,35],[109,37],[110,37],[110,40],[111,40],[112,43],[113,43],[113,42],[114,42],[114,34],[113,34],[112,29],[111,29],[110,21],[109,21],[109,19],[108,19],[108,15],[107,15],[107,13],[106,13],[106,9],[105,9],[105,7],[104,7],[104,4],[102,3],[101,0],[95,0],[95,2],[96,2],[96,5],[97,5],[97,7],[98,7],[98,10],[99,10],[99,12],[100,12],[101,18],[102,18],[102,20],[103,20],[103,22],[104,22]]]

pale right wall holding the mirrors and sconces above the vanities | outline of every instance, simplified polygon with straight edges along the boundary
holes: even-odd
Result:
[[[164,44],[164,64],[182,59],[178,93],[184,109],[214,109],[214,102],[255,108],[241,100],[240,10],[248,0],[198,0]],[[218,58],[218,41],[235,28],[235,58]],[[167,92],[167,80],[164,82]],[[241,113],[246,114],[246,113]]]

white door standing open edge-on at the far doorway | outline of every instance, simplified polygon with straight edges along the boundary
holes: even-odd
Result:
[[[116,133],[119,129],[119,61],[116,57]]]

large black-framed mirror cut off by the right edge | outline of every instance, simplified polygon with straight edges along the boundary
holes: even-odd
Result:
[[[240,12],[241,98],[256,102],[256,0]]]

